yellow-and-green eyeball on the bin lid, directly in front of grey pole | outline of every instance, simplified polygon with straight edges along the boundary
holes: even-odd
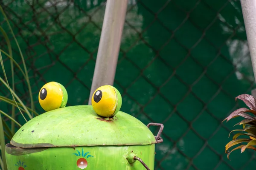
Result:
[[[113,86],[103,85],[94,91],[92,105],[99,116],[113,117],[121,108],[122,96]]]

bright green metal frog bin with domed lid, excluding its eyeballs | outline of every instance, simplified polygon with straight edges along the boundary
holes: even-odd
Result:
[[[157,136],[150,125],[160,126]],[[145,126],[119,111],[113,118],[91,105],[48,111],[23,125],[6,144],[8,170],[154,169],[162,124]]]

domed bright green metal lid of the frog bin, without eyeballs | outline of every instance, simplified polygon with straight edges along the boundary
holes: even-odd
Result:
[[[147,126],[127,113],[119,111],[107,119],[98,116],[91,105],[79,105],[36,116],[20,127],[10,143],[32,148],[146,145],[156,140]]]

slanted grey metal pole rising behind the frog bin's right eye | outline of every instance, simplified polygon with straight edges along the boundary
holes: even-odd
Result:
[[[93,92],[113,85],[128,0],[107,0],[88,105]]]

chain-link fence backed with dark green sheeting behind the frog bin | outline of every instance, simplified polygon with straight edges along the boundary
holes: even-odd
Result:
[[[105,1],[2,0],[1,5],[25,54],[36,110],[43,113],[37,96],[49,81],[67,88],[68,105],[86,105]],[[21,63],[15,47],[14,52]],[[8,70],[9,62],[5,65]],[[29,105],[17,68],[15,82]],[[224,146],[234,122],[221,123],[239,107],[235,97],[254,88],[239,0],[129,0],[114,86],[122,94],[122,111],[165,126],[155,170],[255,167],[250,151],[227,160]],[[3,86],[0,92],[9,95]]]

